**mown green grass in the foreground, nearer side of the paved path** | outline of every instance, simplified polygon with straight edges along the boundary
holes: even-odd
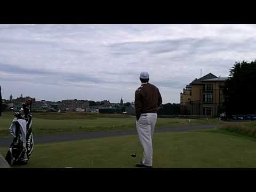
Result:
[[[0,148],[5,156],[6,148]],[[130,154],[137,153],[137,157]],[[138,135],[35,144],[28,165],[14,167],[134,167]],[[155,133],[154,167],[256,167],[256,142],[221,130]]]

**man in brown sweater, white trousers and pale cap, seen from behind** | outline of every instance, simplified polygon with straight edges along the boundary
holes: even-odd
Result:
[[[162,104],[162,97],[155,85],[148,83],[147,72],[140,73],[141,86],[135,91],[136,127],[143,147],[143,158],[137,167],[153,166],[153,134],[157,121],[157,108]]]

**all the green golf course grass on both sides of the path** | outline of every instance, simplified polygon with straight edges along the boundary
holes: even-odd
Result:
[[[2,136],[9,136],[8,127],[12,118],[11,114],[1,117]],[[121,115],[35,114],[33,123],[35,136],[61,132],[135,129],[135,118]],[[192,119],[189,122],[188,119],[158,118],[157,127],[202,124],[219,124],[221,129],[155,133],[154,167],[256,167],[254,122],[242,123],[240,126],[216,119]],[[251,137],[238,134],[241,132],[240,127],[243,133],[250,133]],[[3,156],[6,151],[7,147],[0,148]],[[132,153],[137,153],[137,157],[131,157]],[[141,161],[141,157],[138,135],[127,135],[35,143],[29,164],[14,167],[134,167]]]

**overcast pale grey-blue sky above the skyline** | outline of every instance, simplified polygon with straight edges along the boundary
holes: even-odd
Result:
[[[227,77],[255,50],[256,25],[0,25],[0,85],[4,99],[132,102],[148,71],[179,103],[200,69]]]

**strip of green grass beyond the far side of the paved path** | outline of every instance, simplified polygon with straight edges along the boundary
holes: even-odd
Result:
[[[3,114],[0,118],[0,137],[9,137],[12,114]],[[157,127],[182,125],[203,125],[223,123],[217,119],[171,119],[158,118]],[[117,114],[83,113],[34,113],[33,134],[35,136],[54,133],[74,133],[91,131],[132,130],[135,129],[135,117]]]

